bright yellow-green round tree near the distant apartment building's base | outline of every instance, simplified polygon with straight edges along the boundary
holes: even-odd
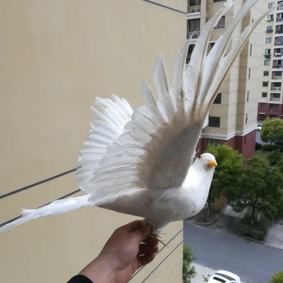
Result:
[[[266,118],[261,125],[260,138],[264,142],[273,142],[283,138],[283,120],[279,118]]]

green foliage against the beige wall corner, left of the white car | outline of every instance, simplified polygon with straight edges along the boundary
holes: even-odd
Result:
[[[192,265],[195,259],[190,245],[183,245],[183,283],[191,283],[191,279],[197,275],[195,266]]]

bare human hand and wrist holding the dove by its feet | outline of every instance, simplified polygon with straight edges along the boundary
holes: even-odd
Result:
[[[101,253],[79,274],[93,282],[126,283],[141,266],[151,262],[158,251],[158,241],[149,233],[148,224],[133,221],[116,229]],[[141,243],[142,242],[142,243]]]

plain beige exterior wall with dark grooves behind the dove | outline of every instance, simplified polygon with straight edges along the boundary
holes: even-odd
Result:
[[[186,0],[156,2],[187,11]],[[171,76],[185,43],[185,14],[141,0],[6,0],[0,11],[0,195],[73,169],[95,97],[116,93],[141,105],[141,84],[152,85],[157,56],[164,54]],[[77,188],[70,173],[2,198],[0,223]],[[1,235],[0,282],[66,282],[133,219],[82,208],[13,228]],[[168,225],[164,240],[181,229],[181,222]],[[181,241],[182,232],[132,282]],[[181,282],[181,269],[182,244],[147,281]]]

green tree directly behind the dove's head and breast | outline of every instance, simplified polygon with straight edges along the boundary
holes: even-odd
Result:
[[[214,203],[216,198],[219,198],[221,194],[228,198],[231,196],[236,180],[238,180],[243,169],[243,158],[238,151],[227,144],[218,144],[217,146],[208,144],[205,152],[213,154],[217,161],[207,199],[208,213],[210,213],[210,205]]]

